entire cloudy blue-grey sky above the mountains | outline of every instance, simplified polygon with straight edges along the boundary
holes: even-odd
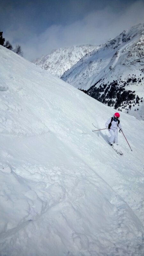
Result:
[[[0,30],[33,60],[52,49],[101,44],[144,23],[142,0],[1,0]]]

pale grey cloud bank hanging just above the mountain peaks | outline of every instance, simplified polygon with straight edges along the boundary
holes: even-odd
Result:
[[[108,5],[101,10],[87,13],[83,19],[72,24],[52,25],[40,34],[34,33],[32,28],[28,30],[20,25],[16,31],[7,31],[7,35],[10,42],[21,45],[25,58],[33,60],[60,47],[105,43],[123,30],[144,23],[143,13],[143,1],[135,1],[126,6],[123,4],[122,8],[120,4]],[[12,40],[13,35],[15,41]]]

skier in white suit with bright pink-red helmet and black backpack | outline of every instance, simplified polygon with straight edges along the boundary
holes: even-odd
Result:
[[[109,144],[113,146],[114,143],[118,143],[117,137],[117,127],[119,128],[119,132],[122,131],[122,126],[119,121],[120,114],[115,113],[113,117],[109,118],[106,123],[106,129],[108,129],[110,133]]]

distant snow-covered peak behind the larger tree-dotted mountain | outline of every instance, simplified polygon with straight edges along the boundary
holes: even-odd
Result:
[[[61,77],[66,70],[76,64],[85,54],[97,48],[98,46],[91,44],[60,48],[32,62],[53,75]]]

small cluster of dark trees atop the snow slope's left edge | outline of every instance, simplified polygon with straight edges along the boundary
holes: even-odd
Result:
[[[19,54],[20,56],[23,56],[23,51],[21,50],[21,46],[18,44],[16,45],[15,49],[13,49],[12,44],[7,40],[5,43],[5,38],[3,37],[3,32],[0,31],[0,45],[3,45],[7,49]]]

